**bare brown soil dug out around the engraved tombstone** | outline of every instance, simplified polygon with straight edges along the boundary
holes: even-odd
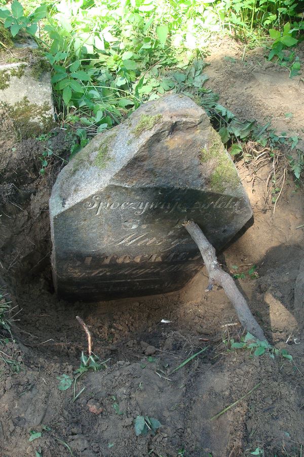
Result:
[[[241,46],[224,44],[213,47],[207,69],[221,103],[261,123],[273,116],[277,126],[300,135],[301,81],[296,85],[280,68],[265,66],[262,49],[246,51],[245,66]],[[285,112],[293,117],[287,120]],[[274,214],[265,184],[272,164],[263,162],[253,174],[250,165],[237,163],[254,218],[219,254],[226,271],[245,273],[237,279],[240,290],[271,344],[292,355],[290,362],[230,350],[231,338],[239,341],[242,329],[224,291],[205,291],[204,268],[184,289],[162,296],[86,304],[58,300],[48,199],[62,167],[64,135],[58,130],[54,136],[57,155],[45,176],[39,175],[44,142],[16,143],[8,136],[0,141],[0,274],[3,293],[15,307],[15,342],[0,346],[0,455],[237,457],[256,448],[265,456],[301,455],[304,335],[294,286],[304,254],[303,228],[296,227],[304,214],[303,189],[295,189],[292,176]],[[73,385],[60,390],[57,377],[71,377],[82,351],[87,353],[76,315],[89,325],[94,354],[106,362],[78,379],[73,401]],[[155,436],[137,437],[137,415],[154,417],[162,427]],[[41,435],[29,441],[34,432]]]

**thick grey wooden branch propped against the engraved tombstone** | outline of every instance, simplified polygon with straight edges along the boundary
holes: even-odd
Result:
[[[228,273],[220,268],[216,259],[215,249],[212,244],[209,243],[200,227],[193,220],[186,222],[184,227],[201,251],[209,275],[208,290],[212,289],[213,284],[221,286],[224,289],[226,296],[233,304],[242,326],[258,340],[267,341],[264,332],[253,317],[247,302],[237,288],[235,281]]]

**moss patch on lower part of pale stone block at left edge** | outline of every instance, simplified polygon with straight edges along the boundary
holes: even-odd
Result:
[[[50,114],[51,106],[47,102],[37,105],[24,97],[8,109],[14,128],[22,140],[47,133],[54,127],[54,119]]]

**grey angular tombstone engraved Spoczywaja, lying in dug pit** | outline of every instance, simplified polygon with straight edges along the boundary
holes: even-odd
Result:
[[[202,268],[183,227],[222,248],[252,216],[233,161],[184,95],[147,102],[60,172],[50,199],[55,288],[68,300],[182,288]]]

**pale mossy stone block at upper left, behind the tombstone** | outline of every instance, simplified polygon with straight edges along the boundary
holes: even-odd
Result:
[[[0,63],[0,107],[21,138],[48,132],[54,124],[50,73],[35,78],[27,61]]]

